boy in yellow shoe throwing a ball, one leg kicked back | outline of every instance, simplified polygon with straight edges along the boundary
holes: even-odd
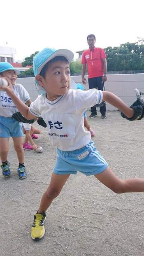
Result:
[[[43,95],[31,103],[30,108],[16,97],[11,83],[7,94],[27,119],[42,116],[48,128],[48,137],[52,145],[57,146],[57,160],[51,182],[42,196],[34,223],[31,237],[39,240],[44,236],[46,210],[54,198],[58,196],[71,174],[77,171],[86,176],[94,175],[115,193],[142,192],[144,179],[131,178],[121,180],[112,172],[105,159],[100,155],[91,141],[91,134],[84,129],[84,111],[90,106],[100,104],[102,100],[121,109],[133,120],[135,111],[113,93],[107,91],[73,90],[70,88],[70,67],[73,59],[71,51],[50,48],[43,49],[35,55],[33,69],[38,88]]]

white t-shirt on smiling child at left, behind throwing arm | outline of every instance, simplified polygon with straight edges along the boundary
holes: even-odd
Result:
[[[24,102],[30,99],[30,95],[22,84],[15,84],[13,89],[17,97]],[[18,109],[14,105],[14,102],[5,91],[0,91],[0,116],[11,117],[15,112],[18,112]]]

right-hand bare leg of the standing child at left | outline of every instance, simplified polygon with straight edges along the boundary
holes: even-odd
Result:
[[[24,163],[23,137],[12,137],[19,163]]]

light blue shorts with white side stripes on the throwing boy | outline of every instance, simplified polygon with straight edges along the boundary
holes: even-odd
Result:
[[[77,174],[77,171],[86,176],[96,175],[107,169],[108,164],[94,146],[89,142],[85,147],[74,151],[57,149],[57,161],[53,172],[58,175]]]

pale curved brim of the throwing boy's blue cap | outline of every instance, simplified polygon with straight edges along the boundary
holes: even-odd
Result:
[[[44,61],[44,63],[42,63],[42,65],[37,70],[37,74],[41,72],[42,68],[46,65],[46,63],[51,61],[56,56],[63,56],[67,59],[68,62],[71,62],[74,58],[74,54],[72,51],[67,49],[59,49],[55,51],[53,54],[51,54],[51,56],[46,61]]]

